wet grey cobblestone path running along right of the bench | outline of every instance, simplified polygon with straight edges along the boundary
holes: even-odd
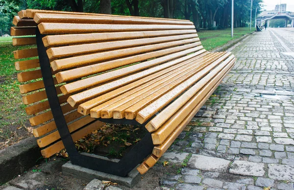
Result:
[[[294,30],[255,32],[229,51],[236,66],[164,154],[162,162],[182,167],[160,183],[294,190]]]

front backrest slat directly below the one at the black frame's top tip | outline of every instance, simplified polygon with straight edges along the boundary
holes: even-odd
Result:
[[[42,40],[45,47],[48,46],[64,46],[72,44],[83,44],[89,42],[102,42],[113,40],[127,40],[136,38],[150,38],[159,36],[173,36],[196,34],[195,30],[162,30],[162,31],[140,31],[140,32],[105,32],[91,34],[63,34],[45,36]]]

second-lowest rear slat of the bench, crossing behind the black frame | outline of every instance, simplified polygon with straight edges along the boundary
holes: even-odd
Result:
[[[69,131],[71,133],[71,132],[85,126],[86,124],[88,124],[94,120],[95,119],[91,118],[90,116],[86,116],[81,119],[78,119],[77,121],[74,121],[73,123],[68,125]],[[59,139],[60,139],[59,132],[54,131],[53,133],[50,133],[47,136],[45,136],[41,139],[38,139],[37,142],[38,142],[39,147],[42,148],[42,147],[45,147],[45,146],[47,146],[47,145],[51,144],[52,142],[55,142]]]

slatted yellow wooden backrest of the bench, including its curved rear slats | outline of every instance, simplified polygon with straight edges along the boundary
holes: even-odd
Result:
[[[101,126],[99,121],[95,124],[90,116],[84,116],[95,103],[77,110],[81,103],[105,92],[122,94],[123,91],[115,90],[122,86],[126,86],[125,91],[135,88],[127,84],[171,67],[172,64],[166,64],[171,60],[184,61],[190,53],[206,51],[193,23],[185,20],[28,9],[19,12],[13,24],[17,27],[11,28],[12,36],[34,35],[36,27],[41,34],[48,34],[43,43],[48,48],[59,102],[70,132],[74,132],[74,141]],[[36,39],[14,38],[13,44],[36,44]],[[20,85],[20,91],[28,105],[26,113],[33,115],[29,119],[31,125],[38,126],[33,129],[34,136],[49,133],[38,140],[40,147],[46,147],[43,156],[49,157],[64,146],[58,141],[58,131],[52,132],[56,125],[39,69],[37,48],[17,50],[14,56],[16,59],[34,57],[20,60],[15,66],[22,71],[18,73],[19,81],[25,82]],[[101,101],[106,100],[107,97]],[[89,127],[77,131],[89,123]]]

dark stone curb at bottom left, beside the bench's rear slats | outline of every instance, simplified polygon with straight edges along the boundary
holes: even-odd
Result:
[[[34,137],[0,150],[0,185],[35,166],[40,157],[41,151]]]

